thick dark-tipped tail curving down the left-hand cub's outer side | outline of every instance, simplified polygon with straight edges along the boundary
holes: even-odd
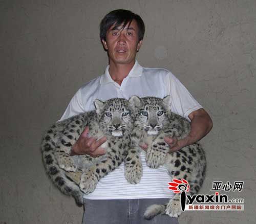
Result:
[[[42,161],[48,176],[51,178],[54,185],[65,195],[74,197],[77,206],[83,205],[83,193],[80,191],[75,182],[66,174],[65,170],[58,166],[54,156],[54,148],[56,147],[55,136],[58,130],[58,125],[53,125],[42,140],[41,153]]]

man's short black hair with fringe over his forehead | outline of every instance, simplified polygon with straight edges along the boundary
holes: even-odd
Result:
[[[142,40],[145,33],[145,25],[142,18],[139,15],[125,9],[117,9],[104,16],[100,22],[100,39],[106,40],[106,32],[113,25],[115,25],[115,28],[117,28],[123,24],[124,28],[127,24],[130,25],[133,19],[136,21],[139,28],[139,41]]]

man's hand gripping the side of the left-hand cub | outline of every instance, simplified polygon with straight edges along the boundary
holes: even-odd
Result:
[[[93,158],[106,153],[104,148],[100,146],[106,141],[106,137],[97,140],[93,137],[88,137],[89,127],[86,127],[80,137],[73,145],[70,155],[91,155]]]

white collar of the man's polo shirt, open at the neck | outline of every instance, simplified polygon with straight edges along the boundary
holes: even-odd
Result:
[[[101,84],[105,84],[105,83],[109,83],[109,82],[115,82],[111,76],[110,76],[110,73],[109,73],[109,68],[110,68],[110,65],[106,66],[106,69],[105,69],[105,73],[101,76],[101,79],[100,79],[100,83]],[[127,77],[139,77],[142,75],[142,71],[143,71],[143,68],[142,66],[138,63],[138,61],[136,60],[134,65],[133,65],[133,68],[132,70],[130,71],[130,73],[127,75]],[[126,78],[127,78],[126,77]]]

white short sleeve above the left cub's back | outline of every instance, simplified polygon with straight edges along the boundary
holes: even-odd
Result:
[[[84,112],[85,110],[82,104],[81,89],[79,89],[71,99],[67,109],[65,110],[64,114],[62,115],[59,121],[65,120],[67,118],[70,118],[72,116],[75,116]]]

